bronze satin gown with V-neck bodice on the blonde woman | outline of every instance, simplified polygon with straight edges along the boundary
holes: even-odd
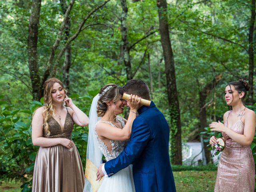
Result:
[[[64,129],[54,119],[48,120],[50,136],[45,138],[67,138],[71,140],[74,122],[67,112]],[[73,142],[73,141],[72,141]],[[36,156],[32,192],[82,192],[84,189],[84,171],[78,150],[62,145],[40,147]]]

